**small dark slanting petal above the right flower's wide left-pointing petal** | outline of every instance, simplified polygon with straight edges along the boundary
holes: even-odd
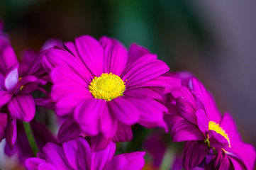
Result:
[[[188,120],[189,122],[193,123],[196,125],[196,111],[191,106],[185,98],[178,97],[176,99],[176,105],[177,105],[177,110],[179,111],[179,114],[185,119]]]

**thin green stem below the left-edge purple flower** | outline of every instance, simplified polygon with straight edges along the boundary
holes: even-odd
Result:
[[[23,122],[23,126],[24,126],[24,129],[25,129],[27,138],[28,138],[29,145],[30,145],[30,147],[33,151],[34,156],[36,157],[36,154],[38,153],[39,149],[38,149],[38,145],[36,145],[35,137],[34,137],[33,132],[31,130],[30,123]]]

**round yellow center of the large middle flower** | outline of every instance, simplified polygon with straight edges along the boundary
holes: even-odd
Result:
[[[111,101],[113,98],[123,96],[126,85],[123,80],[115,74],[103,73],[100,77],[94,77],[89,85],[89,91],[94,98]]]

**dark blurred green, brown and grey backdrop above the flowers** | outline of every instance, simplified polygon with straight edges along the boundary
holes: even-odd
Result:
[[[148,47],[172,71],[189,70],[256,146],[256,1],[0,0],[19,54],[48,38],[108,35]]]

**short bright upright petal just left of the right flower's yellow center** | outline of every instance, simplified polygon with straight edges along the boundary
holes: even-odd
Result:
[[[208,118],[206,117],[206,113],[199,109],[196,111],[196,118],[199,129],[206,135],[206,132],[208,132]]]

